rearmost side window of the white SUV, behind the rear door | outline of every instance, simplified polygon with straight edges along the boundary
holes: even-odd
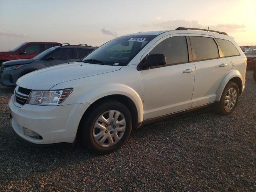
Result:
[[[218,44],[220,45],[220,48],[224,54],[224,56],[236,56],[240,55],[237,48],[234,46],[234,44],[228,40],[224,39],[216,39]]]

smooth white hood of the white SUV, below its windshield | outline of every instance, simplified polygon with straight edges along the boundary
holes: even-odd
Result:
[[[18,86],[33,90],[50,90],[59,83],[108,73],[121,69],[122,66],[71,62],[43,68],[20,77]]]

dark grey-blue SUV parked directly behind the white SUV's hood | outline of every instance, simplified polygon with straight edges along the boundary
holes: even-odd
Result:
[[[0,83],[4,86],[16,86],[18,78],[29,72],[77,61],[80,58],[84,58],[96,48],[87,44],[67,44],[49,48],[32,59],[3,62],[0,69]]]

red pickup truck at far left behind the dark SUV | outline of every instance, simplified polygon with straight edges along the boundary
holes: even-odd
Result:
[[[16,59],[31,59],[43,52],[44,50],[59,46],[61,43],[56,42],[28,42],[22,43],[13,50],[0,52],[0,65],[2,62]]]

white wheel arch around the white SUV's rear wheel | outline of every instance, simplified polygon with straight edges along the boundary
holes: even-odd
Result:
[[[239,96],[242,94],[243,86],[244,86],[244,83],[243,83],[243,80],[242,80],[242,75],[240,74],[240,72],[238,70],[231,70],[224,77],[224,79],[222,80],[222,82],[221,82],[221,84],[218,88],[216,101],[220,100],[224,88],[226,87],[226,85],[230,81],[235,82],[237,84],[237,86],[239,88]]]

